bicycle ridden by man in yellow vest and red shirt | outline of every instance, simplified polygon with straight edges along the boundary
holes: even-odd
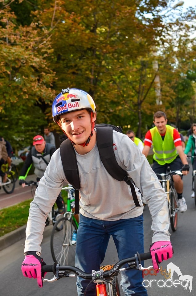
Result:
[[[178,226],[178,195],[174,188],[174,182],[172,175],[182,175],[182,171],[170,171],[170,168],[167,168],[167,173],[156,174],[157,177],[161,177],[159,181],[163,187],[163,190],[167,194],[168,208],[169,208],[169,220],[172,231],[177,230]]]

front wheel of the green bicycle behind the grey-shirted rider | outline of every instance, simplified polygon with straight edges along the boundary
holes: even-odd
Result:
[[[75,265],[76,244],[71,245],[74,229],[77,230],[74,221],[67,217],[59,219],[52,229],[50,241],[52,259],[60,265]]]

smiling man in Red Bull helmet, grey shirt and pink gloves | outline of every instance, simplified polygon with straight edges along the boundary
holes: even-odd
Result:
[[[157,269],[158,263],[172,257],[173,250],[168,231],[167,196],[145,156],[125,134],[113,131],[116,161],[134,182],[139,202],[136,207],[130,186],[124,181],[114,179],[101,162],[94,129],[96,106],[92,97],[80,89],[63,89],[53,102],[52,116],[72,142],[79,169],[80,223],[76,243],[76,266],[88,273],[93,269],[99,270],[111,235],[119,260],[134,256],[137,251],[144,252],[142,193],[153,219],[153,245],[150,251],[153,266]],[[22,273],[26,277],[37,278],[40,287],[43,286],[41,265],[44,264],[40,257],[40,244],[46,213],[50,211],[54,196],[59,194],[64,181],[67,180],[58,149],[52,155],[39,182],[27,222]],[[78,278],[79,296],[84,295],[88,284],[89,280]],[[125,295],[147,295],[139,270],[124,271],[121,285]],[[86,295],[95,294],[95,283],[91,283]]]

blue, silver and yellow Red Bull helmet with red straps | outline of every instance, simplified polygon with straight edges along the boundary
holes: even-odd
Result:
[[[62,89],[52,104],[53,120],[57,122],[58,116],[80,109],[88,109],[94,113],[96,106],[92,97],[84,90],[78,88]]]

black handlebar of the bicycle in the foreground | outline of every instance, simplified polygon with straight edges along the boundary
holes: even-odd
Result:
[[[104,271],[103,272],[103,277],[107,277],[107,276],[111,276],[111,273],[116,273],[116,271],[118,271],[118,269],[120,269],[120,267],[126,263],[131,263],[130,268],[135,268],[136,266],[138,266],[138,264],[141,264],[141,261],[143,260],[147,260],[147,259],[151,259],[151,253],[142,253],[142,254],[135,254],[134,257],[130,257],[130,258],[126,258],[123,260],[120,260],[119,262],[117,262],[115,265],[113,265],[113,268],[108,270],[108,271]],[[58,267],[57,267],[58,266]],[[43,265],[42,266],[42,272],[53,272],[54,274],[56,273],[56,270],[60,271],[72,271],[74,272],[76,275],[80,275],[81,277],[85,277],[85,278],[92,278],[92,273],[85,273],[84,271],[82,271],[81,269],[75,267],[75,266],[60,266],[57,265],[56,262],[54,263],[54,265]]]

